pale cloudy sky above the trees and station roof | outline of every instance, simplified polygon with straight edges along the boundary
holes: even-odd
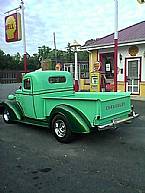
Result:
[[[68,42],[84,45],[114,32],[114,0],[23,0],[25,6],[26,51],[38,53],[39,46],[66,50]],[[6,43],[4,14],[19,7],[20,0],[0,0],[0,49],[23,54],[23,41]],[[118,30],[145,20],[145,4],[118,0]]]

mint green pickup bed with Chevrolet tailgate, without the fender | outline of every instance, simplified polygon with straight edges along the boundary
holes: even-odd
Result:
[[[86,115],[92,127],[109,124],[113,120],[128,117],[131,111],[130,93],[121,92],[77,92],[62,97],[43,97],[45,106],[69,105]],[[46,113],[48,110],[46,110]]]

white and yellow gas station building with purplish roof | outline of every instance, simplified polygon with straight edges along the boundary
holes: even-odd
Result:
[[[114,33],[88,40],[81,49],[89,52],[90,77],[89,80],[80,79],[80,90],[91,90],[91,85],[98,84],[96,79],[102,84],[103,76],[106,79],[105,90],[113,91]],[[100,88],[100,91],[104,90]],[[119,31],[117,91],[145,96],[145,21]]]

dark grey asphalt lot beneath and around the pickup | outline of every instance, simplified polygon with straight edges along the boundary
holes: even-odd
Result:
[[[70,144],[0,116],[0,193],[145,193],[145,102],[133,104],[131,124]]]

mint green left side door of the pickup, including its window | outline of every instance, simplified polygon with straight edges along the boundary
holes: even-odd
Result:
[[[31,78],[25,78],[22,86],[21,106],[26,117],[35,118],[34,102],[33,102],[33,84]]]

